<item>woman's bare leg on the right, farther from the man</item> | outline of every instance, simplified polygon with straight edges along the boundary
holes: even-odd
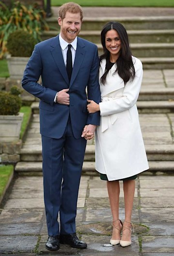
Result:
[[[124,201],[125,201],[125,222],[123,223],[123,233],[121,240],[131,241],[131,214],[135,193],[135,180],[123,181]],[[125,227],[129,227],[126,228]]]

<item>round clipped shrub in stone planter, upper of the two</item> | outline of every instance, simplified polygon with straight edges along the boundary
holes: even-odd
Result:
[[[12,32],[7,40],[8,69],[12,80],[21,80],[29,57],[34,49],[36,39],[32,34],[23,30]]]

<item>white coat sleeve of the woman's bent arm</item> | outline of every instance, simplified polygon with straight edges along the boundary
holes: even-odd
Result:
[[[134,80],[127,82],[123,90],[123,96],[99,103],[102,116],[123,112],[136,103],[143,79],[143,65],[139,59],[136,58],[135,60]]]

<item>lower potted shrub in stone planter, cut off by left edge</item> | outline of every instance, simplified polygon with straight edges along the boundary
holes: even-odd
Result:
[[[0,142],[19,139],[23,113],[19,113],[21,90],[12,86],[10,92],[0,92]]]

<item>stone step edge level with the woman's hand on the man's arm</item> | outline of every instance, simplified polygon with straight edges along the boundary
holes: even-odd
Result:
[[[150,100],[150,101],[137,101],[136,103],[138,108],[174,108],[174,101],[169,100]],[[39,102],[33,102],[31,104],[31,109],[35,110],[39,108]]]

